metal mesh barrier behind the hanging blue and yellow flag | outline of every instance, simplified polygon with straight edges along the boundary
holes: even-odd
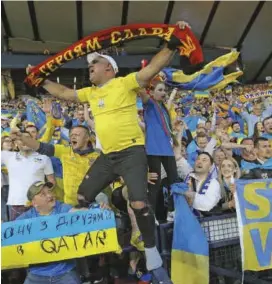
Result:
[[[242,283],[239,282],[243,275],[236,214],[205,217],[200,218],[199,221],[209,242],[210,284]],[[159,236],[163,264],[170,272],[173,223],[161,224]],[[258,279],[257,276],[258,273],[253,273],[253,275],[246,273],[244,283],[271,283]]]

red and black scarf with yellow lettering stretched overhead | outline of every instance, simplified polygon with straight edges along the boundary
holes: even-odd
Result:
[[[155,31],[158,32],[156,33]],[[133,24],[99,31],[77,41],[58,54],[35,66],[26,77],[25,83],[30,86],[38,87],[51,73],[66,62],[85,56],[88,53],[120,44],[121,42],[145,37],[159,37],[160,39],[169,41],[171,36],[180,39],[180,55],[187,56],[191,64],[197,64],[203,61],[201,47],[189,28],[186,27],[180,30],[175,25]]]

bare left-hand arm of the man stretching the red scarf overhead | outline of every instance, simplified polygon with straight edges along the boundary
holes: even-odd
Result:
[[[29,74],[30,70],[33,68],[33,66],[28,65],[26,68],[26,73]],[[69,89],[61,84],[52,82],[50,80],[45,80],[42,87],[52,96],[66,101],[74,101],[79,102],[79,99],[77,97],[77,93],[73,89]]]

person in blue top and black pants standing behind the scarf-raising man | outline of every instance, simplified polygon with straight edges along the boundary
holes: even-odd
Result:
[[[164,104],[166,86],[157,81],[151,86],[150,96],[141,92],[144,103],[144,120],[146,131],[146,152],[150,172],[158,174],[155,184],[149,184],[149,202],[156,212],[158,192],[161,183],[161,165],[163,165],[168,179],[168,185],[178,180],[177,164],[173,151],[175,137],[173,136],[170,109],[177,93],[173,90],[167,106]],[[176,145],[177,143],[175,143]]]

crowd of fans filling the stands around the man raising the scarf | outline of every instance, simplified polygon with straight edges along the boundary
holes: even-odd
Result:
[[[245,89],[249,87],[221,90],[186,103],[188,93],[169,89],[160,81],[153,82],[148,91],[138,92],[143,105],[138,108],[138,123],[145,134],[149,168],[148,198],[157,224],[174,221],[174,183],[188,183],[188,204],[196,216],[210,216],[235,212],[236,179],[272,178],[271,96],[242,103],[239,95]],[[41,216],[76,210],[78,187],[100,155],[89,105],[60,101],[61,127],[69,130],[70,140],[66,141],[54,137],[57,126],[52,103],[48,96],[37,100],[46,113],[42,135],[27,121],[27,102],[17,98],[2,103],[3,110],[17,111],[15,116],[1,116],[2,222],[33,218],[37,212]],[[118,135],[116,131],[122,128],[112,129],[108,135]],[[43,277],[62,274],[77,279],[74,283],[106,283],[107,275],[114,279],[129,274],[136,279],[145,274],[144,243],[128,199],[122,177],[95,198],[115,212],[121,246],[118,254],[80,259],[77,272],[73,260],[53,267],[33,266],[25,283],[43,283]],[[122,249],[128,245],[136,251],[125,257]],[[18,279],[24,275],[19,274],[22,272],[8,272],[9,283],[22,283]],[[65,277],[58,283],[65,283]]]

